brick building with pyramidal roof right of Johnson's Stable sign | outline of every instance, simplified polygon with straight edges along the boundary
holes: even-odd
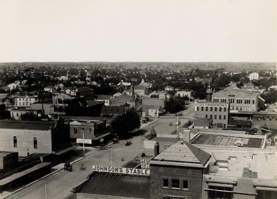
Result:
[[[201,198],[211,155],[180,140],[150,160],[150,198]]]

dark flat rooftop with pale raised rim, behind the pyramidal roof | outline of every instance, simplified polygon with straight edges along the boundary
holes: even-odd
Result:
[[[234,144],[243,142],[242,147],[247,148],[262,148],[264,144],[264,135],[243,135],[231,133],[208,133],[202,132],[196,135],[191,144],[213,145],[213,146],[230,146],[238,147]]]

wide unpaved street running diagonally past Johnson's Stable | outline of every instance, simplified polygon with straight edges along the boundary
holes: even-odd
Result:
[[[193,119],[194,115],[194,103],[188,104],[184,111],[179,112],[178,120],[181,121],[181,127],[188,120]],[[170,134],[177,128],[174,123],[177,122],[177,116],[175,114],[168,114],[166,116],[152,120],[152,124],[143,124],[144,132],[150,131],[152,126],[156,130],[157,134]],[[170,122],[173,123],[169,126]],[[148,125],[148,126],[147,126]],[[86,147],[85,157],[78,162],[73,163],[73,171],[64,171],[62,169],[64,164],[59,164],[55,167],[58,171],[53,171],[51,175],[37,180],[37,182],[26,186],[24,189],[15,191],[12,195],[8,196],[8,192],[3,192],[0,198],[75,198],[71,192],[73,187],[77,187],[79,184],[87,179],[87,176],[91,173],[92,165],[101,166],[113,166],[113,167],[126,167],[125,165],[132,162],[143,150],[143,135],[137,135],[134,138],[129,139],[132,141],[130,146],[125,146],[126,140],[120,140],[117,144],[111,144],[104,149],[96,149],[93,147]],[[82,156],[82,147],[79,147],[79,154]],[[75,159],[80,158],[75,157]],[[85,170],[81,170],[81,165],[86,167]],[[60,169],[60,170],[59,170]]]

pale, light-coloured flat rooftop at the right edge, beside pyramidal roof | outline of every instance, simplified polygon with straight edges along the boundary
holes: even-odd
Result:
[[[277,167],[275,167],[277,162],[276,149],[262,149],[258,151],[205,149],[205,151],[212,154],[212,163],[206,172],[210,176],[218,178],[244,177],[274,180],[277,175]]]

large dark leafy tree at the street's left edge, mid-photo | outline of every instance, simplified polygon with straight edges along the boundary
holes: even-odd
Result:
[[[138,113],[131,109],[123,115],[118,115],[111,121],[111,132],[118,135],[120,138],[125,138],[135,129],[139,129],[141,120]]]

